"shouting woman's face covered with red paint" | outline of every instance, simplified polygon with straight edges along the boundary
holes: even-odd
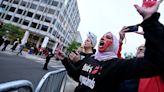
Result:
[[[105,52],[112,46],[113,40],[110,35],[104,35],[99,42],[99,51]]]

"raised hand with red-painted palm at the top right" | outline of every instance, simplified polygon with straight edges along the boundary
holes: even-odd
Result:
[[[153,13],[157,12],[159,5],[163,0],[143,0],[142,6],[134,5],[138,13],[143,17],[143,19],[149,18]]]

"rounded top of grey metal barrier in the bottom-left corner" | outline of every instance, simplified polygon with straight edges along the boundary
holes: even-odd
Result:
[[[0,84],[0,92],[19,92],[19,89],[33,92],[33,84],[28,80],[17,80]]]

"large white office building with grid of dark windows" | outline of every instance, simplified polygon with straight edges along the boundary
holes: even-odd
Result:
[[[4,0],[0,18],[26,30],[22,43],[55,49],[68,46],[80,23],[77,0]]]

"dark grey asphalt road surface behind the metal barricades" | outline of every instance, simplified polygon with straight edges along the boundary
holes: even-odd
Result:
[[[0,83],[14,80],[29,80],[36,88],[40,79],[56,68],[49,67],[49,70],[42,70],[43,64],[34,60],[26,59],[16,55],[0,53]]]

